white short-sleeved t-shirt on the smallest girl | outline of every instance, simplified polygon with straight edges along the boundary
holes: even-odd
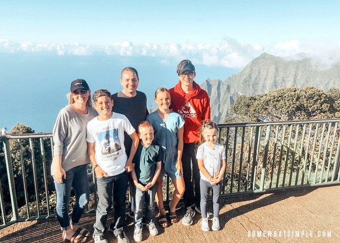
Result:
[[[209,148],[204,142],[197,148],[196,158],[203,159],[204,168],[214,177],[220,173],[221,159],[225,159],[225,150],[218,142],[214,149]],[[200,174],[201,179],[209,181],[210,178],[206,178],[201,171]]]

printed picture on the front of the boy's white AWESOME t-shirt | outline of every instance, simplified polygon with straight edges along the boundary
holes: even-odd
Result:
[[[102,160],[116,160],[121,153],[118,129],[108,130],[98,134],[102,147]]]

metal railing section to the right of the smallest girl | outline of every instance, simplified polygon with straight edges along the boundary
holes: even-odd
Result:
[[[222,193],[340,183],[340,119],[219,124]]]

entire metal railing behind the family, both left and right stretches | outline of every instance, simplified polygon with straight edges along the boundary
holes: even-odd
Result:
[[[259,121],[218,125],[227,156],[222,194],[340,183],[340,119]],[[0,228],[55,216],[52,157],[51,133],[0,136],[0,169],[6,168],[0,177]],[[88,175],[88,211],[93,211],[97,196],[91,166]],[[169,178],[166,187],[169,200]]]

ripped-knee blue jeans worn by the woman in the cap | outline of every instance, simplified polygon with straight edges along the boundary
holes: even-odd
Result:
[[[82,214],[87,207],[90,191],[88,189],[88,178],[86,164],[76,166],[66,172],[66,179],[60,184],[54,180],[55,192],[57,194],[56,213],[62,230],[78,225]],[[68,204],[71,195],[71,186],[76,195],[76,203],[72,210],[71,222],[68,219]]]

